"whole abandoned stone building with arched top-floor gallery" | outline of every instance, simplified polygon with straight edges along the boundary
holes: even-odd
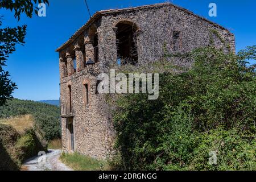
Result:
[[[112,151],[115,132],[108,104],[96,89],[97,74],[107,72],[109,64],[139,66],[158,61],[164,45],[170,53],[185,53],[210,43],[235,49],[234,35],[226,28],[171,3],[95,13],[56,50],[63,150],[100,159]]]

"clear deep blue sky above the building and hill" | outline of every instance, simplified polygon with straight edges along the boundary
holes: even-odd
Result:
[[[91,13],[98,10],[161,3],[158,0],[88,0]],[[219,23],[236,36],[237,51],[256,44],[255,0],[174,0],[194,13]],[[217,17],[208,16],[208,5],[217,4]],[[6,69],[18,84],[13,96],[27,100],[59,99],[59,60],[55,49],[63,44],[89,19],[84,0],[49,0],[46,17],[32,19],[22,17],[17,22],[13,14],[0,10],[5,15],[3,26],[15,27],[27,24],[26,44],[18,46],[10,55]]]

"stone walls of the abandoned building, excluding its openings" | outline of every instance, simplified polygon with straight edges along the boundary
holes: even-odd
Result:
[[[137,27],[135,34],[139,65],[158,61],[163,56],[164,47],[167,51],[165,53],[185,53],[212,43],[226,52],[235,50],[234,35],[225,28],[172,6],[102,15],[80,35],[79,40],[60,51],[60,99],[61,103],[68,105],[68,85],[71,85],[75,151],[100,159],[108,158],[113,151],[114,127],[106,102],[107,95],[96,93],[97,73],[108,73],[108,65],[117,61],[115,26],[118,22],[132,22]],[[179,39],[175,44],[174,31],[179,32]],[[88,55],[92,52],[89,36],[94,33],[98,34],[100,61],[95,65],[94,74],[90,74],[82,65],[77,66],[77,72],[70,73],[71,55],[77,56],[78,64],[88,60]],[[84,48],[87,55],[82,56],[81,50]],[[74,49],[80,52],[74,52]],[[85,84],[89,88],[88,105]],[[71,150],[67,123],[67,118],[61,118],[64,151]]]

